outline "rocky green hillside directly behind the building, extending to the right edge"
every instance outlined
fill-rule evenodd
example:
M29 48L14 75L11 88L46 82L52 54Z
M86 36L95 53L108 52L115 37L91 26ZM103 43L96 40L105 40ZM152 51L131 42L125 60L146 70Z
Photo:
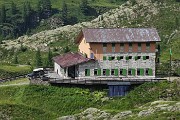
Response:
M128 1L116 9L112 9L90 22L67 25L54 30L46 30L32 36L22 36L17 40L5 41L6 48L20 47L21 44L30 49L40 48L47 50L47 46L56 48L59 52L64 47L75 46L74 40L78 32L84 27L154 27L161 37L161 60L166 62L169 58L169 45L172 45L173 59L180 59L179 19L180 3L175 0L152 2L151 0ZM170 41L170 42L168 42Z

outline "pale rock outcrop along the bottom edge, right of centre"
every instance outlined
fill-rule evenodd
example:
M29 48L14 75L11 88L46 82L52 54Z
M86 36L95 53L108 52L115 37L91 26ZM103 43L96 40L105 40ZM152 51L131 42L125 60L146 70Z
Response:
M139 107L140 112L133 113L132 111L123 111L112 115L105 111L99 110L97 108L88 108L85 111L70 115L63 116L57 120L121 120L134 117L136 119L146 117L152 114L159 114L159 112L179 112L180 113L180 102L177 101L155 101L150 103L149 106ZM167 118L168 119L168 118Z

